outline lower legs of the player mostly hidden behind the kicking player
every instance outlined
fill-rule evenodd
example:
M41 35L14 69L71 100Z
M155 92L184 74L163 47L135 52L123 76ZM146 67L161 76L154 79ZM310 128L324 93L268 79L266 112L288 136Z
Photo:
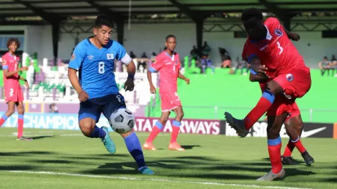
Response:
M296 161L291 156L294 147L296 147L298 151L301 153L307 166L314 163L314 158L311 155L309 155L300 139L303 128L304 125L301 118L301 114L296 115L285 121L285 130L287 131L287 135L289 135L290 139L287 146L285 147L285 151L282 157L283 164L287 165L297 164Z

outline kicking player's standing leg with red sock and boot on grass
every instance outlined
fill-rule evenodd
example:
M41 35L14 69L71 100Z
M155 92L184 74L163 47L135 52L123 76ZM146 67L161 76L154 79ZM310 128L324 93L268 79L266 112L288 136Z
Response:
M268 115L268 153L272 164L272 170L263 177L257 179L257 181L272 181L274 179L283 179L285 176L285 170L283 170L281 162L282 143L280 131L287 115L288 113L286 112L281 115Z

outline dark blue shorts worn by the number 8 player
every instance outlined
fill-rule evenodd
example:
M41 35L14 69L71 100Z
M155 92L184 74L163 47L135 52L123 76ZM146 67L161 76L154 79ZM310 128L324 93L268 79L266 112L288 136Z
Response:
M126 108L124 96L120 93L103 96L100 98L91 98L85 102L80 102L80 110L78 111L78 122L84 118L100 120L100 114L103 113L105 118L110 119L110 115L120 109Z

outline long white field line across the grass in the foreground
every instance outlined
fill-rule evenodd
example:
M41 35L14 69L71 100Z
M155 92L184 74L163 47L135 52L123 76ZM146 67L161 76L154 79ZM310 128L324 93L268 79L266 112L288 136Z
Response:
M257 184L226 184L219 182L204 182L204 181L180 181L173 179L142 179L137 177L113 177L105 175L85 175L85 174L75 174L75 173L57 173L49 171L28 171L28 170L3 170L12 173L27 173L27 174L41 174L41 175L63 175L72 177L90 177L90 178L104 178L104 179L119 179L119 180L131 180L131 181L157 181L157 182L172 182L172 183L186 183L186 184L199 184L199 185L213 185L213 186L236 186L245 188L279 188L279 189L309 189L309 188L294 188L294 187L284 187L284 186L261 186Z

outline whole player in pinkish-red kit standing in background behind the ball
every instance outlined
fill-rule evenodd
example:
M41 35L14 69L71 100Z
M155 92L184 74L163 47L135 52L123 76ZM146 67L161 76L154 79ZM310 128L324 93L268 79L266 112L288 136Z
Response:
M155 146L153 146L152 142L165 126L171 111L174 111L175 120L172 124L171 142L168 145L168 149L173 151L185 151L185 149L177 143L177 135L180 131L182 118L184 117L182 103L180 102L177 94L177 78L185 80L187 84L190 83L190 80L180 73L181 64L179 54L175 52L175 45L177 45L175 36L166 36L165 45L167 49L155 57L155 63L147 72L147 78L150 83L150 91L151 93L155 93L155 87L152 83L151 74L159 71L159 93L162 100L162 116L159 121L155 123L155 126L153 126L153 130L144 143L143 148L146 150L155 150Z

